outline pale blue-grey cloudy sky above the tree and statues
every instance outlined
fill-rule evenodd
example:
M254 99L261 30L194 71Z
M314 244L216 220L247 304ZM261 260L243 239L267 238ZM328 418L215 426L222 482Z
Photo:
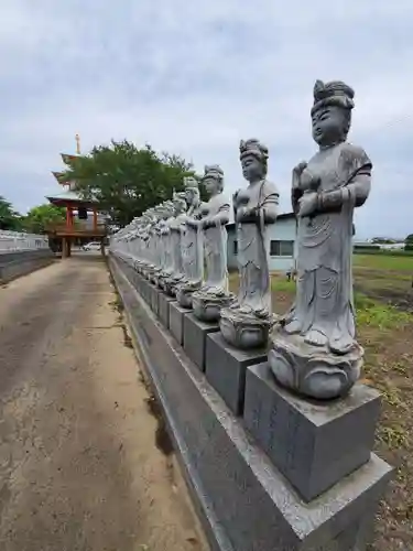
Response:
M21 212L57 191L59 152L111 138L219 163L244 185L241 138L291 169L315 151L316 78L356 89L350 141L374 164L358 234L413 231L412 0L1 0L0 195Z

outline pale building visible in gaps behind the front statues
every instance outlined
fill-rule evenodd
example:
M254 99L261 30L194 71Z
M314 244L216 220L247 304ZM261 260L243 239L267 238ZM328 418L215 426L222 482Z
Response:
M238 242L236 225L228 224L228 269L238 268ZM276 223L268 229L268 250L270 271L286 272L295 266L296 222L294 213L279 215Z

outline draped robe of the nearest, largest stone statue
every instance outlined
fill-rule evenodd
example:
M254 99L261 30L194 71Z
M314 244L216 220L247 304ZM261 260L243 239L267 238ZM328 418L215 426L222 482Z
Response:
M358 181L358 176L370 176L371 161L362 149L340 143L316 153L307 170L320 179L322 194L336 192L336 205L298 219L297 295L287 321L294 320L304 336L311 332L323 334L333 352L345 353L355 343L356 333L351 270L354 208L369 192L366 181Z

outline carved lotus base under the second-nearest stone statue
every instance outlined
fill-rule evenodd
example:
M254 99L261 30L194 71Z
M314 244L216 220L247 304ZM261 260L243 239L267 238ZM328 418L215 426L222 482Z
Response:
M252 313L224 309L219 327L227 343L242 350L261 348L268 345L273 317L262 318Z

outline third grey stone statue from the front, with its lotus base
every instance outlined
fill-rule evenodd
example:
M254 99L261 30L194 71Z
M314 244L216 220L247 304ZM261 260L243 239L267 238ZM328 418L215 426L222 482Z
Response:
M193 293L194 315L205 322L219 320L220 309L233 300L228 292L227 230L229 201L224 195L224 171L218 165L205 166L203 183L209 201L200 206L205 256L205 282Z

